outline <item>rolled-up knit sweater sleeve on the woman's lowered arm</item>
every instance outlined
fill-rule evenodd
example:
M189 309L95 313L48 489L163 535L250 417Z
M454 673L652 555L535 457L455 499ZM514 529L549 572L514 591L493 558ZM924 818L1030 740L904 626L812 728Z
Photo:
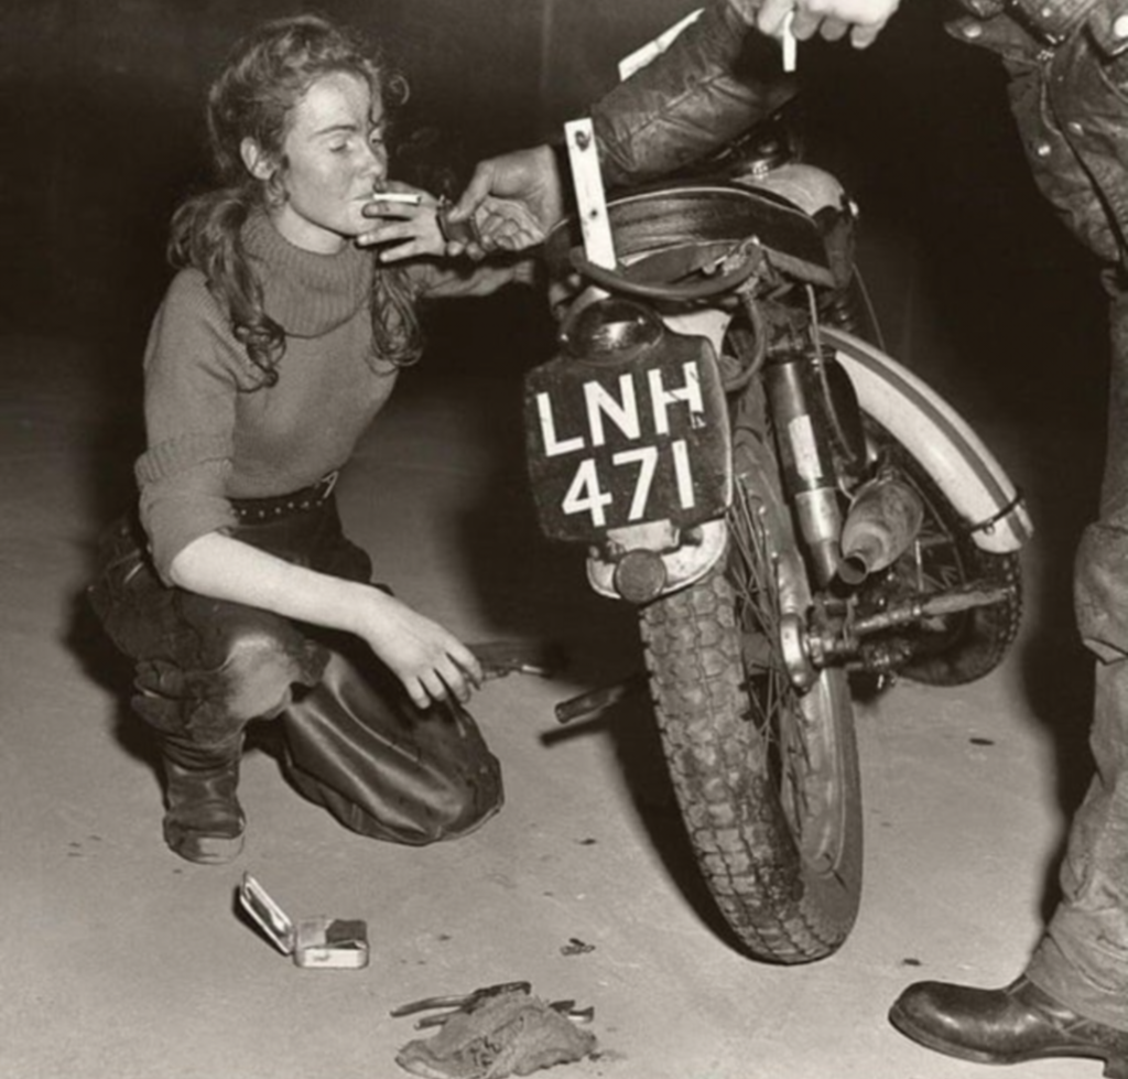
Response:
M238 348L203 275L182 271L149 334L148 448L135 466L141 523L166 584L176 554L236 523L224 483L235 445Z

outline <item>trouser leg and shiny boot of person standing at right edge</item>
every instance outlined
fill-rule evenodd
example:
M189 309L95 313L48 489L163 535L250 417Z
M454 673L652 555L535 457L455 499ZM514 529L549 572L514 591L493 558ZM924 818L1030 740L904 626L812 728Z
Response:
M1128 1079L1128 299L1112 305L1109 436L1100 519L1077 552L1077 624L1096 656L1096 774L1074 817L1061 902L1025 973L980 990L910 985L890 1020L931 1049L984 1063L1092 1056Z

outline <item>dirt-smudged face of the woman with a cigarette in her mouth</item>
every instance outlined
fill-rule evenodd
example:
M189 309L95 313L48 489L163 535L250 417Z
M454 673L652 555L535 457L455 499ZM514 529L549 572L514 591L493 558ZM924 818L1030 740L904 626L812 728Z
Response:
M335 254L371 229L361 207L387 176L384 129L384 103L354 74L323 76L299 99L282 143L285 200L271 213L291 244Z

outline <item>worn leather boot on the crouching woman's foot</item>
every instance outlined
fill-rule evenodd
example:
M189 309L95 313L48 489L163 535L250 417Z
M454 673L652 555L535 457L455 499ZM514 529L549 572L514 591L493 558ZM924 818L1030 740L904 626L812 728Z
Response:
M188 861L218 866L243 850L246 818L236 797L243 736L206 749L173 739L165 765L165 842Z

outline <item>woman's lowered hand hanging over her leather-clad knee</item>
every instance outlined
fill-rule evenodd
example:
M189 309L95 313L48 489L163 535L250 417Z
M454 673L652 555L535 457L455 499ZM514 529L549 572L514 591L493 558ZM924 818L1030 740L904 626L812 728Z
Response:
M377 588L365 597L355 632L418 708L450 698L465 703L482 684L482 665L457 637Z

